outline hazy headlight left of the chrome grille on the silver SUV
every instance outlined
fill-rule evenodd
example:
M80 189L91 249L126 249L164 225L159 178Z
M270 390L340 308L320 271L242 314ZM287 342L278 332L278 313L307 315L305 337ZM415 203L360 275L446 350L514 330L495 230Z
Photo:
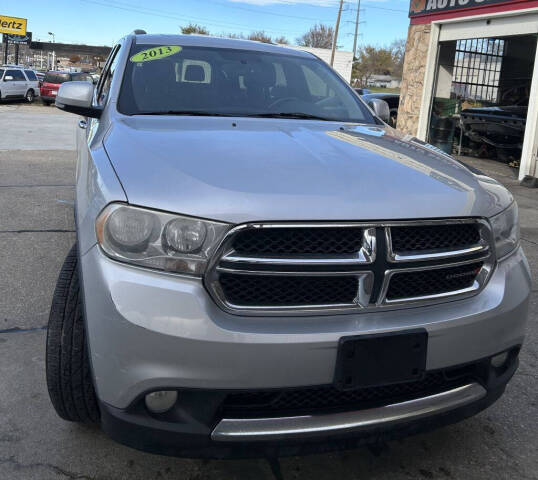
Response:
M165 270L202 275L207 261L230 228L210 222L131 207L108 205L97 218L97 239L111 258Z

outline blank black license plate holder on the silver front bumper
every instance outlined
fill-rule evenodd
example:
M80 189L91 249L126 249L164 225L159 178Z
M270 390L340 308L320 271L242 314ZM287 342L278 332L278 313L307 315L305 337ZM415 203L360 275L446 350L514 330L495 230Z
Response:
M353 390L420 380L427 348L424 329L342 337L334 384L341 390Z

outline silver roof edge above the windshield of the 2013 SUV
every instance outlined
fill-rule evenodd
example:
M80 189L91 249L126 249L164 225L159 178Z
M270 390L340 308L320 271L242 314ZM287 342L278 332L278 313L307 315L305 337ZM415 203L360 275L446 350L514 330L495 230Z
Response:
M294 55L297 57L314 57L314 55L309 52L305 52L304 50L295 50L271 43L255 42L252 40L239 40L235 38L211 37L209 35L142 34L136 35L135 38L137 45L179 45L185 47L231 48L237 50L269 52L281 55Z

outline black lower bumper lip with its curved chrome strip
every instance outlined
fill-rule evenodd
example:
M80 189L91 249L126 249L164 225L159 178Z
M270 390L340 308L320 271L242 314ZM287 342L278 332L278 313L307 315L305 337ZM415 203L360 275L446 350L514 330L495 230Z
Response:
M101 402L101 426L112 439L132 448L190 458L276 457L345 450L426 432L476 415L502 395L516 367L514 358L505 373L490 379L489 385L471 383L441 395L354 412L214 422L199 403L194 415L183 411L179 415L175 412L175 418L154 418L140 405L123 410Z

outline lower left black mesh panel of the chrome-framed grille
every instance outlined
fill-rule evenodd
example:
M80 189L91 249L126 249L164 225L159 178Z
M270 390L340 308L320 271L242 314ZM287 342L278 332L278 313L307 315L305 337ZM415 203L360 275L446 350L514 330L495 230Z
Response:
M357 296L354 276L273 276L222 274L227 300L244 306L351 304Z

